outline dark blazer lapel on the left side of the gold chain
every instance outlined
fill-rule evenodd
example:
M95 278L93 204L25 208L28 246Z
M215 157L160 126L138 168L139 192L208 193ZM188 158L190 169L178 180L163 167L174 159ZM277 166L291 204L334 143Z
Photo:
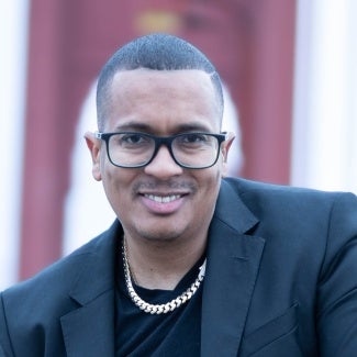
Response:
M67 356L114 356L114 287L116 222L91 253L74 285L70 298L78 309L62 316Z

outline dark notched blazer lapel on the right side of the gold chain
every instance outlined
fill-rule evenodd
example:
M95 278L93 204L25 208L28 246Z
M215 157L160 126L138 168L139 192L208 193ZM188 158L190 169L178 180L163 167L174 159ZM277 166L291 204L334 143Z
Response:
M260 237L245 235L257 223L223 181L210 227L202 298L202 356L237 356L265 244Z

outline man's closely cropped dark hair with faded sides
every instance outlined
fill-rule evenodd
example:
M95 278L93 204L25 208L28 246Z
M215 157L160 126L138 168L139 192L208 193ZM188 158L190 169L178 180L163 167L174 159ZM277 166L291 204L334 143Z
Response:
M119 48L100 71L97 86L98 126L102 130L110 104L110 88L121 70L147 68L154 70L198 69L210 75L223 116L223 91L220 76L208 57L187 41L168 34L149 34Z

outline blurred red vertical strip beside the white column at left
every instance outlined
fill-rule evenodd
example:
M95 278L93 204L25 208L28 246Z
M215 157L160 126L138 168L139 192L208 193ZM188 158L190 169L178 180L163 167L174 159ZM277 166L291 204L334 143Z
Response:
M64 171L64 66L60 1L32 1L20 278L58 257Z

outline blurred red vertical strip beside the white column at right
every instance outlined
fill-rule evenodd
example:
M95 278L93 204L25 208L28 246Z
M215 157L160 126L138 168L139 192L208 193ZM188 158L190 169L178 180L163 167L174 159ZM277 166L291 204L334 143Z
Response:
M295 1L258 3L250 35L249 83L241 105L245 108L242 112L244 175L289 183Z

